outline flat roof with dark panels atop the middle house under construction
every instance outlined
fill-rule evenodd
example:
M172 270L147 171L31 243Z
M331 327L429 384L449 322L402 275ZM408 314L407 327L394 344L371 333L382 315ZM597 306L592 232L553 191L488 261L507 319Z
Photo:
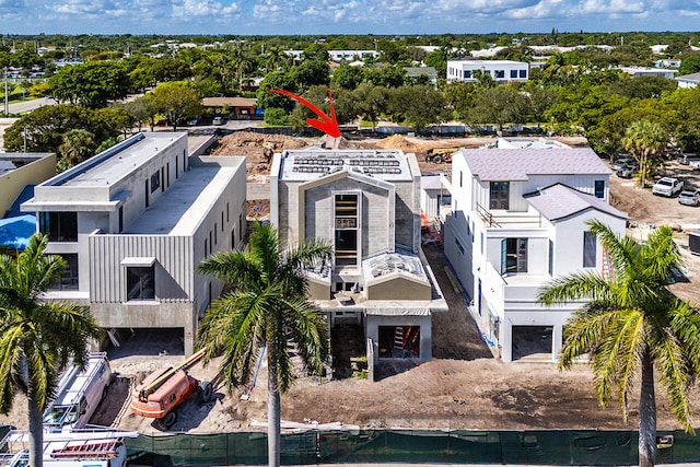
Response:
M287 182L305 182L341 171L381 180L412 179L408 161L399 150L327 150L284 151L280 175Z

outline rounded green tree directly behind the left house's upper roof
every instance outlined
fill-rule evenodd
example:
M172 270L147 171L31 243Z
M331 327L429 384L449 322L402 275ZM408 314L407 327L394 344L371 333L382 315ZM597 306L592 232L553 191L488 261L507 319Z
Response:
M172 81L155 86L152 102L159 113L165 115L173 126L173 131L182 121L201 114L201 96L189 81Z

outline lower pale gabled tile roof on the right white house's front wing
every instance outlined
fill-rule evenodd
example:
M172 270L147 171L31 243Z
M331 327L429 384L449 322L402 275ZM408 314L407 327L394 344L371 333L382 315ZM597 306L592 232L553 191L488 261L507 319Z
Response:
M616 218L629 218L627 213L615 209L605 200L562 184L551 185L523 197L549 221L564 219L588 209L596 209Z

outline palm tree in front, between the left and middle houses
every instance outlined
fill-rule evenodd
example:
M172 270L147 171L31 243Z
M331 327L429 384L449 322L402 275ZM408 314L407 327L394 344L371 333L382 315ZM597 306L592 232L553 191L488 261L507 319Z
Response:
M280 465L280 394L294 381L288 341L299 346L307 369L318 374L329 353L327 325L306 299L301 268L330 255L329 244L317 240L282 250L275 227L256 221L245 249L213 255L197 267L232 288L211 305L198 335L205 363L223 354L220 375L229 392L249 381L267 346L270 466Z

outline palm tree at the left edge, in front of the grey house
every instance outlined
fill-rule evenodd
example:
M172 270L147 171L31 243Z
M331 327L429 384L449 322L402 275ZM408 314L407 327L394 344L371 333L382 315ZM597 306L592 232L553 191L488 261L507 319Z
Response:
M84 306L42 300L66 267L60 256L44 255L47 243L37 233L18 256L0 255L0 412L10 411L18 390L26 395L31 466L43 465L43 412L60 370L70 360L84 369L90 339L103 335Z

